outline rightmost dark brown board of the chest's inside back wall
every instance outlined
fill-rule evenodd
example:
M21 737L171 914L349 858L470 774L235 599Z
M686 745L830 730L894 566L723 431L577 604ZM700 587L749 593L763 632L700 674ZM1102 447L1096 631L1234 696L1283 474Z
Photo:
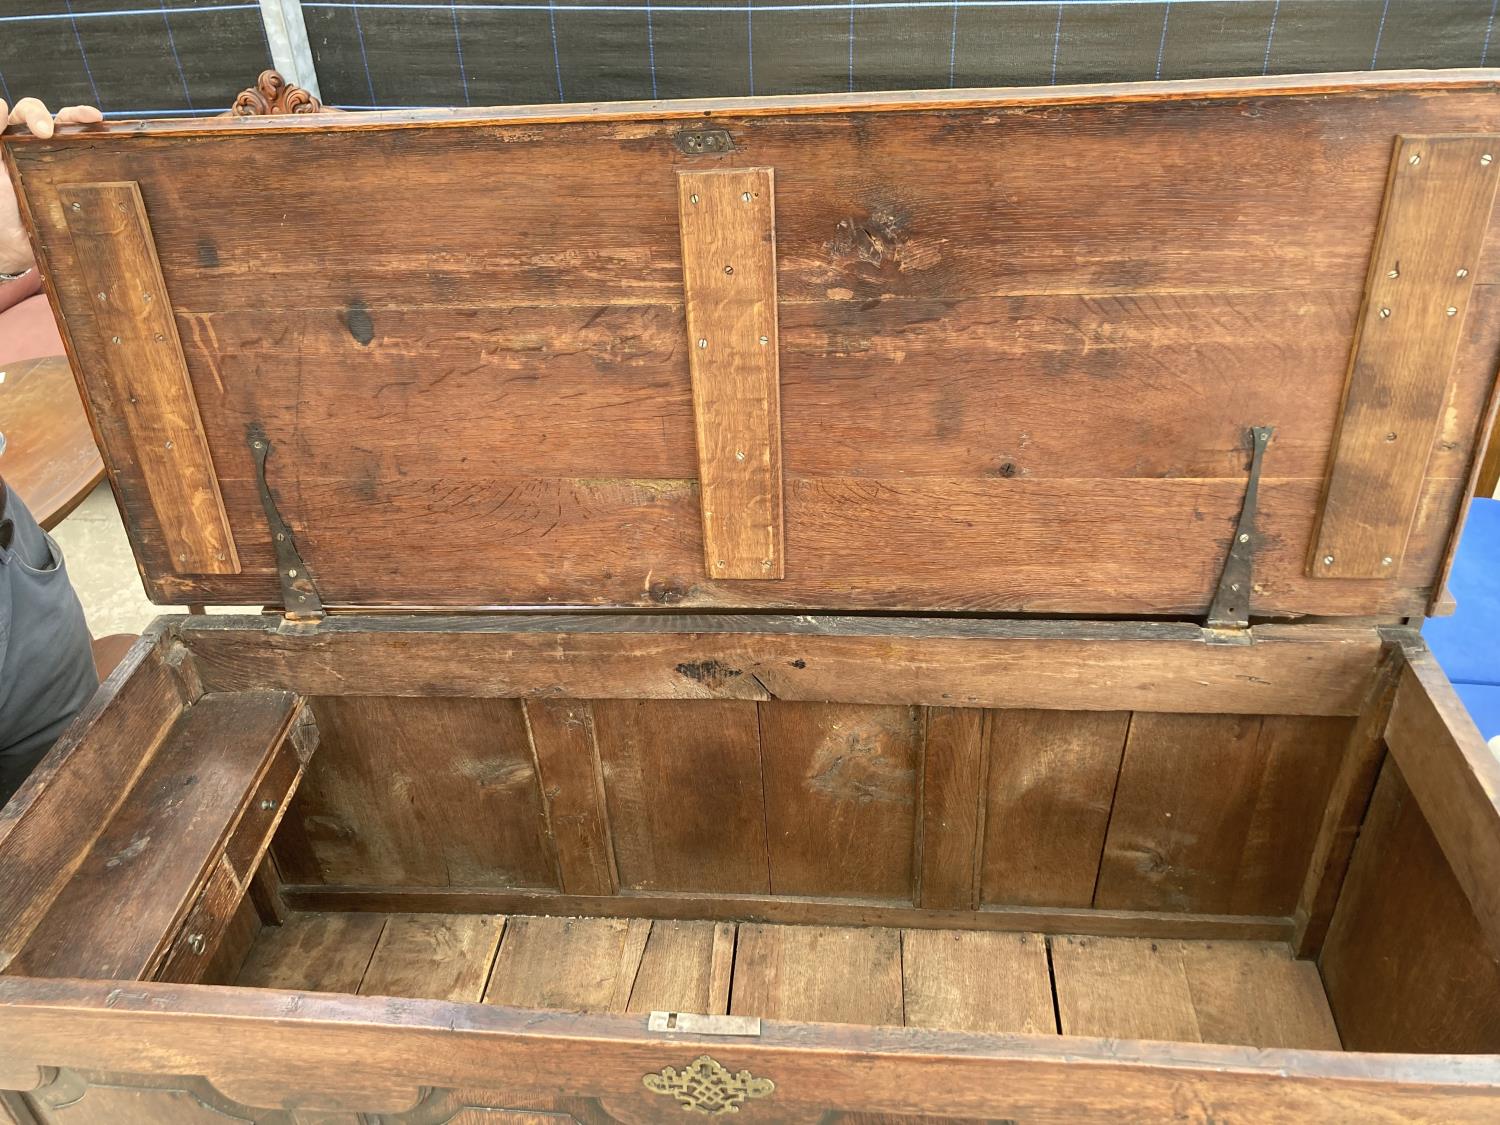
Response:
M1346 720L1137 714L1094 904L1290 914Z

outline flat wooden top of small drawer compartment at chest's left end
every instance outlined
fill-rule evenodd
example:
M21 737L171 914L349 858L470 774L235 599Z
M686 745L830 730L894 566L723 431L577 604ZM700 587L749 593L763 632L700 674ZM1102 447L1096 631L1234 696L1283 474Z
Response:
M154 970L297 706L286 692L210 694L189 706L10 970L105 980Z

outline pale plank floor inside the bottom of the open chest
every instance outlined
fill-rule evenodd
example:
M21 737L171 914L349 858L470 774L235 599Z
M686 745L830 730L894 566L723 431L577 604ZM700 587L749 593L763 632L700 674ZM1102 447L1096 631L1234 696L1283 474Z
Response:
M1338 1050L1280 942L434 914L292 914L238 984L594 1012Z

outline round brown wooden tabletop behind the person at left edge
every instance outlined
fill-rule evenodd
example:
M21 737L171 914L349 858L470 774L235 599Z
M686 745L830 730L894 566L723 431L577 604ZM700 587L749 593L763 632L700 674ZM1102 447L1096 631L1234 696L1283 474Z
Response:
M104 460L66 356L0 364L0 477L36 522L51 530L104 480Z

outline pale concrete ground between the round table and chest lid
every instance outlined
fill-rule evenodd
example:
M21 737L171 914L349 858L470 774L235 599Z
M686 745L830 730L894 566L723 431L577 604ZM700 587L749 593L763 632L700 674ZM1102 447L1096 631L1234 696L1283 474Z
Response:
M135 568L130 540L120 522L120 508L108 484L100 484L84 502L52 528L63 549L68 574L82 602L88 632L98 636L140 633L162 614L186 614L186 606L153 606ZM232 614L237 608L212 609Z

